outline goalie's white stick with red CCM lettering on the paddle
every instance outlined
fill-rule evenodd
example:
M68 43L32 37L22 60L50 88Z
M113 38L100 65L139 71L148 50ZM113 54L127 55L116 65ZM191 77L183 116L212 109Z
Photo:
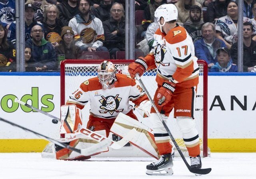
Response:
M53 115L51 115L51 114L48 114L47 112L44 112L44 111L42 111L42 110L40 110L40 109L38 109L38 108L35 108L35 107L33 107L33 106L31 106L31 105L25 103L25 102L22 102L22 101L18 100L17 98L15 98L14 102L18 102L18 103L20 103L20 104L22 104L22 105L24 105L24 106L27 106L28 108L34 109L34 110L36 110L37 112L40 112L40 113L42 113L42 114L44 114L44 115L46 115L46 116L48 116L48 117L50 117L50 118L53 118L53 120L56 120L57 123L58 123L58 121L60 121L60 118L57 118L56 116L53 116ZM53 122L53 120L52 120L52 122ZM54 122L53 122L53 123L54 123ZM54 123L54 124L57 124L57 123ZM88 130L88 129L82 128L82 129L80 129L79 131L80 131L80 132L79 132L78 134L82 134L82 135L88 136L88 137L90 137L90 138L92 138L93 140L96 140L96 141L98 141L98 142L101 142L101 141L103 141L103 140L105 140L105 139L108 139L108 138L106 138L105 136L102 136L102 135L100 135L100 134L97 134L96 132L94 132L94 131L92 131L92 130ZM110 145L109 145L109 146L110 146L111 148L113 148L113 149L120 149L120 148L124 147L124 145L127 144L130 140L132 140L132 138L135 136L135 134L136 134L136 129L132 129L132 130L130 130L130 131L127 133L127 135L124 136L121 140L119 140L119 141L117 141L117 142L115 142L115 141L113 141L113 140L110 140ZM109 140L109 139L108 139L108 140Z

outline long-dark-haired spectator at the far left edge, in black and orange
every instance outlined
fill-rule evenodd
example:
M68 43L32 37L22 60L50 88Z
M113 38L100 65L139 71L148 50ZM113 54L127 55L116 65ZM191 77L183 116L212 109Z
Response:
M7 40L4 24L0 22L0 71L15 69L16 50L14 45Z

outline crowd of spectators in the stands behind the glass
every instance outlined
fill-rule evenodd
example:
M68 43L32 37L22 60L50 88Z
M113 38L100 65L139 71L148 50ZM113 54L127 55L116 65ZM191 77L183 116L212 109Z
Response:
M256 72L256 0L244 1L244 72ZM136 25L136 51L153 48L162 4L178 9L177 24L192 37L195 55L210 72L237 72L238 0L135 0L142 11ZM125 51L125 0L25 0L26 71L58 71L64 59ZM16 71L15 0L0 0L0 71Z

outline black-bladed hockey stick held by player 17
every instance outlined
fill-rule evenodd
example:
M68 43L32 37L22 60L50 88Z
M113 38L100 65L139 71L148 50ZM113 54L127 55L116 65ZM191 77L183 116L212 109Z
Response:
M136 79L138 80L138 82L140 83L140 85L142 86L142 89L144 89L146 95L148 96L148 99L150 100L154 110L156 111L156 114L158 116L158 118L161 120L162 124L164 125L164 128L166 129L168 135L170 136L172 142L174 143L174 146L176 147L176 149L178 150L178 152L180 153L180 157L182 158L182 160L184 161L184 163L186 164L186 166L188 167L188 170L192 173L197 173L197 174L208 174L210 173L210 171L212 170L211 168L206 168L206 169L198 169L198 168L193 168L191 167L188 162L186 161L182 151L180 150L180 147L178 146L176 140L174 139L174 137L172 136L172 133L170 132L168 126L165 124L163 117L161 116L160 112L158 111L158 109L156 108L156 105L154 104L154 101L152 100L148 90L146 89L146 87L144 86L144 83L142 82L142 80L140 79L140 76L138 75L138 73L135 75Z

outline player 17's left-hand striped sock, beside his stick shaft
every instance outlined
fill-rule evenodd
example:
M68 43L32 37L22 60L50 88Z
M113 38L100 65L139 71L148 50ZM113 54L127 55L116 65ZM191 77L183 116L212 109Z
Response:
M168 118L164 114L161 114L164 121ZM156 113L150 114L150 120L153 125L154 137L156 140L156 145L158 147L160 155L166 153L172 153L172 145L170 144L170 136L166 129L164 128L163 123L159 119Z

